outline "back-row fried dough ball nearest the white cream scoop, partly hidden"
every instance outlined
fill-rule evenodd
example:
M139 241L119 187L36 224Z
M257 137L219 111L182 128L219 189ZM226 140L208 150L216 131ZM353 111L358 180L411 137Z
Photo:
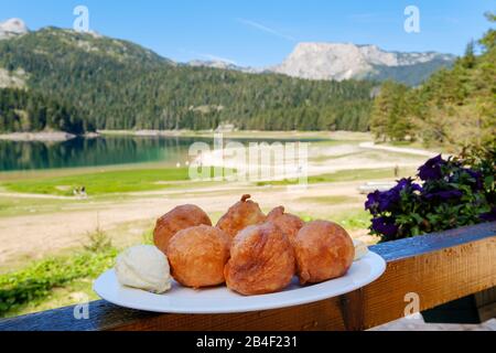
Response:
M177 206L157 221L153 242L166 255L169 242L179 231L201 224L212 226L211 218L202 208L195 205Z

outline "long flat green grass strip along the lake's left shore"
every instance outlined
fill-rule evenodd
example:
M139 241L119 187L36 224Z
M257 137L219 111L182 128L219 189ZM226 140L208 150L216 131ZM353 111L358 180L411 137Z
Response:
M184 188L191 184L187 168L137 169L88 174L6 181L7 191L72 196L75 188L85 186L89 196L115 193Z

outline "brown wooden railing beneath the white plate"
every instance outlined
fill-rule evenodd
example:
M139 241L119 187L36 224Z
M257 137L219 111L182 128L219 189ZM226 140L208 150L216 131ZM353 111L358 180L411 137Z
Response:
M420 310L496 286L496 223L401 239L371 247L387 260L377 281L311 304L236 314L158 314L89 303L89 318L74 307L0 321L2 330L365 330L402 318L408 293Z

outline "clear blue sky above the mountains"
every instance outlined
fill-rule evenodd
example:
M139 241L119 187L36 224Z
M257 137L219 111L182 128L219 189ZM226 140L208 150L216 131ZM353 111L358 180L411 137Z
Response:
M1 0L0 21L72 28L78 4L89 9L90 30L172 60L252 66L280 63L298 42L462 54L489 28L483 13L496 10L494 0ZM407 6L420 9L418 34L403 30Z

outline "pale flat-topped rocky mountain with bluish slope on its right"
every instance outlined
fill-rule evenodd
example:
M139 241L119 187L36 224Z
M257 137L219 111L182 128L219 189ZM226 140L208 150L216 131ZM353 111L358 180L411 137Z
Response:
M273 71L306 79L393 79L418 85L454 55L387 52L376 45L300 43Z

